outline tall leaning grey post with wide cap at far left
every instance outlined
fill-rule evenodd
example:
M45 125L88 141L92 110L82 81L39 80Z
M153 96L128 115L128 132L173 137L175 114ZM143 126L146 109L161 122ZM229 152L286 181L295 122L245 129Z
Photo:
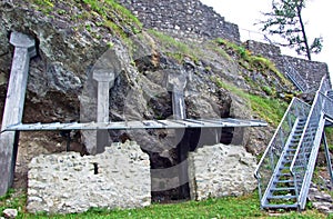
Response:
M34 40L26 34L12 32L10 43L14 46L14 54L1 130L22 120L29 62L37 54ZM18 135L17 131L6 131L0 135L0 196L8 191L13 181Z

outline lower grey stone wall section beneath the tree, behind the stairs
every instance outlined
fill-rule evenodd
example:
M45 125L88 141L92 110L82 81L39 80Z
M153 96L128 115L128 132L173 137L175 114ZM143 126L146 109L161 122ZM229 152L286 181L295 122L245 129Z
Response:
M323 76L326 74L330 77L327 64L324 62L283 56L279 47L253 40L246 41L245 46L253 53L261 54L272 60L283 73L285 73L285 64L292 66L306 81L311 90L319 87Z

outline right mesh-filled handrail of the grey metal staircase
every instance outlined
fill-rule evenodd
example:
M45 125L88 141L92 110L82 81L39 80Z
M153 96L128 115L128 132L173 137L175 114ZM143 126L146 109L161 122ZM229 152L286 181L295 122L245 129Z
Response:
M322 78L322 81L321 81L321 84L320 84L320 89L316 91L316 94L315 94L315 98L314 98L314 101L312 103L312 107L311 107L311 110L310 110L310 113L309 113L309 117L306 119L306 122L305 122L305 128L302 132L302 136L300 138L300 142L297 145L297 148L296 148L296 152L295 152L295 156L292 160L292 163L290 166L290 172L294 179L294 186L295 186L295 192L296 192L296 197L297 197L297 202L300 205L300 202L302 200L300 200L300 197L301 197L301 188L302 186L300 186L297 183L297 179L301 179L302 178L302 185L304 183L304 177L305 177L305 170L306 170L306 167L309 165L309 159L304 159L305 158L305 155L304 155L304 138L305 138L305 135L309 133L309 129L311 128L312 125L315 125L315 126L319 126L319 122L320 122L320 117L321 117L321 111L323 109L323 101L322 101L322 92L326 92L329 90L329 86L327 86L327 81L326 81L326 77L324 76ZM312 127L313 128L313 127ZM317 127L316 127L317 128ZM317 131L316 131L316 135ZM315 135L315 136L316 136ZM321 133L320 133L321 135ZM311 145L313 145L313 141L315 140L315 136L311 139ZM303 150L303 151L301 151ZM301 162L301 158L303 158L303 161ZM297 171L297 168L296 168L296 162L301 162L302 165L299 166L297 168L301 168L302 171Z

